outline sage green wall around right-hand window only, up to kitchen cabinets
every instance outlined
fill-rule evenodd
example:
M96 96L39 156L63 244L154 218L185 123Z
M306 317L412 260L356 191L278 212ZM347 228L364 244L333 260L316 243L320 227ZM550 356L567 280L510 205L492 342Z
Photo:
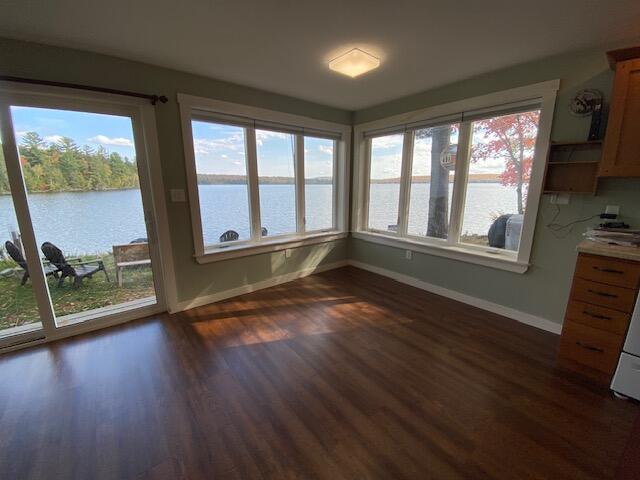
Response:
M552 139L585 140L589 119L569 114L570 99L580 89L597 88L610 97L613 72L605 51L611 46L562 55L518 65L505 70L457 82L442 88L401 98L354 113L362 123L397 113L417 110L468 97L500 91L535 82L559 78L561 87L556 103ZM569 205L560 206L556 220L568 223L604 210L605 205L620 205L622 220L640 227L640 179L608 179L600 182L598 194L572 195ZM564 238L557 238L545 225L556 207L543 196L536 222L531 261L525 274L516 274L431 255L414 253L405 260L404 250L349 240L349 258L393 270L467 295L505 305L522 312L562 323L576 259L575 247L589 224L580 223Z

